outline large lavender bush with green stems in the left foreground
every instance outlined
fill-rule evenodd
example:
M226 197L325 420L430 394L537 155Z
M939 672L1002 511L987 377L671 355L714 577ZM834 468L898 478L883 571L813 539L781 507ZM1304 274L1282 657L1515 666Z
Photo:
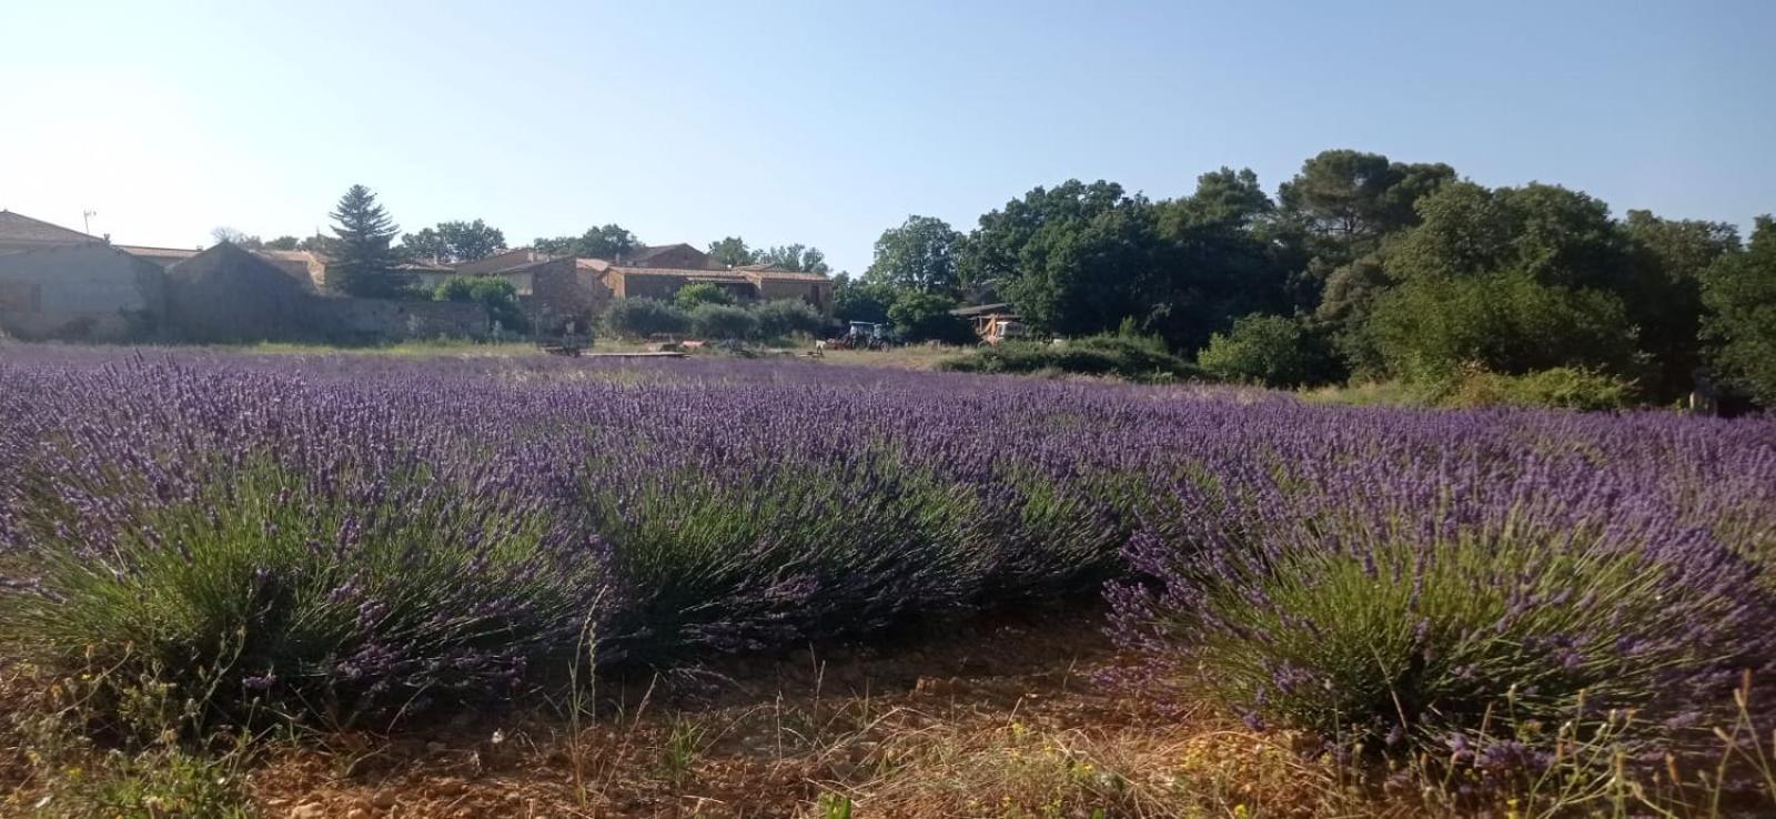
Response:
M71 526L67 501L25 510L32 588L0 595L0 638L119 680L220 684L224 709L266 698L343 720L511 693L572 650L602 567L565 547L559 515L424 473L302 476L265 453L170 503L60 474L108 499L103 540L80 537L92 521Z

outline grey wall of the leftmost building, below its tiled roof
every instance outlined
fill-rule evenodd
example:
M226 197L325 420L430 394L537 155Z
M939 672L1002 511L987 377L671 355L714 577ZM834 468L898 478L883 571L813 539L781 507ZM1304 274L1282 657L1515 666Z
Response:
M135 341L163 306L162 270L108 245L0 254L0 330L12 338Z

